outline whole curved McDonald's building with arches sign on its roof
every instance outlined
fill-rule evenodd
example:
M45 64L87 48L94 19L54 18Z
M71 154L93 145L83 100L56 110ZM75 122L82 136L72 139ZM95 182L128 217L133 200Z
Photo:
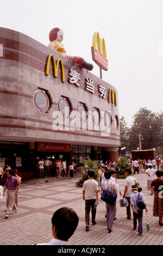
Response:
M107 70L104 40L93 54ZM91 54L91 50L90 50ZM118 92L114 86L29 36L0 28L0 166L36 176L39 159L117 159Z

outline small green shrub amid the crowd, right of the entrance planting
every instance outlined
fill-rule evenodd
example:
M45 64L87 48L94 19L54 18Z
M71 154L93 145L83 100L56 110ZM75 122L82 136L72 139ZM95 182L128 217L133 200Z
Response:
M121 157L116 161L115 169L117 170L117 179L125 179L126 175L124 174L126 169L131 169L130 164L126 157Z

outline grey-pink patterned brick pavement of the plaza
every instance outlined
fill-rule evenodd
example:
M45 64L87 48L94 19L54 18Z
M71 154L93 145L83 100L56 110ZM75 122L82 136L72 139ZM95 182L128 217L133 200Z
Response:
M119 205L117 198L117 220L114 221L113 231L109 234L106 228L105 203L99 199L97 206L96 225L90 225L85 231L85 203L82 199L82 188L75 186L80 174L73 181L68 177L60 179L30 179L23 181L18 194L18 211L5 219L5 201L7 193L1 199L0 206L0 245L33 245L48 242L52 239L51 218L55 210L62 206L73 208L79 216L76 232L69 240L70 245L163 245L163 227L159 218L153 217L153 198L147 191L147 175L135 174L135 178L143 187L147 202L147 216L150 230L146 231L146 214L143 214L143 235L139 236L133 230L133 217L127 220L126 208ZM120 190L124 190L124 179L117 179ZM100 198L100 193L99 193ZM5 239L2 239L2 236Z

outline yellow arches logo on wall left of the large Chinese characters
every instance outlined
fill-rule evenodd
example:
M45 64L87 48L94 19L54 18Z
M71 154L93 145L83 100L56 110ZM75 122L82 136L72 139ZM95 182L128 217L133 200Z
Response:
M64 82L65 82L64 65L63 65L61 59L58 59L58 60L57 60L57 65L56 65L56 63L55 63L55 58L54 58L54 55L53 55L53 54L49 55L49 57L48 57L47 68L46 68L46 75L47 75L47 76L49 75L49 65L50 65L50 60L51 60L51 58L53 59L54 77L58 77L58 65L59 65L59 63L61 63L61 68L62 68L62 82L64 83Z

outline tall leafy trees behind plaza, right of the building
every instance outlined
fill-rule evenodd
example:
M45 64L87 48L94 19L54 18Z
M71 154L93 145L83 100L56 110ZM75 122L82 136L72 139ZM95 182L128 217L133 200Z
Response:
M120 118L121 130L121 147L119 153L122 155L124 151L121 148L126 147L126 151L140 148L140 140L142 149L153 149L162 147L163 144L163 112L154 113L146 107L140 108L134 114L133 124L130 128L122 116Z

